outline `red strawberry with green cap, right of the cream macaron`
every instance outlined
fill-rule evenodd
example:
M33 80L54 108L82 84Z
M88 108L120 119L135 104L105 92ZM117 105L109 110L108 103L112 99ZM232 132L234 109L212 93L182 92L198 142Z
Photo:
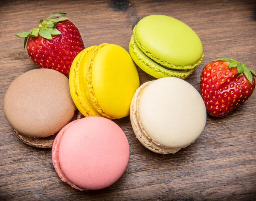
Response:
M210 62L201 74L201 95L207 112L215 117L227 115L253 93L256 73L233 59Z

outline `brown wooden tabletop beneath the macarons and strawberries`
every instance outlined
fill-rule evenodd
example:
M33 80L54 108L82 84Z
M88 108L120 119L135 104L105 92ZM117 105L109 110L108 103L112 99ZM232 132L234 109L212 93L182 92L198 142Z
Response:
M256 92L230 115L207 116L194 144L161 155L135 138L129 117L115 122L131 149L125 174L112 186L79 192L54 170L51 150L29 147L3 114L10 83L37 66L15 34L37 27L52 9L67 12L86 47L104 42L128 50L133 26L150 14L166 14L192 27L204 46L204 61L186 81L199 90L204 65L231 57L256 71L256 3L242 0L1 1L0 2L0 200L256 200ZM141 84L154 79L138 69Z

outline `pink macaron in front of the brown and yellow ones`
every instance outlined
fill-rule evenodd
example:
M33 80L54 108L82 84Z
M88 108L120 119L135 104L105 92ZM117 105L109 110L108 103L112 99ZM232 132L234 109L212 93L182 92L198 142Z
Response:
M70 122L52 146L52 162L58 176L77 190L110 186L125 172L129 156L122 129L98 116Z

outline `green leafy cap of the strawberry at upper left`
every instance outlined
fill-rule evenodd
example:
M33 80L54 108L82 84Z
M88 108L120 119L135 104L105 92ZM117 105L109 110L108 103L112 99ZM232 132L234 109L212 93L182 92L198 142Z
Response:
M20 34L15 34L15 36L20 38L25 38L24 40L24 49L26 46L26 42L29 37L38 37L38 34L46 39L52 40L52 35L58 35L61 34L60 31L58 31L57 28L55 28L56 24L60 21L67 20L67 17L65 16L66 13L58 13L58 14L51 14L46 20L40 20L39 21L39 27L38 28L32 28L30 31L26 31Z

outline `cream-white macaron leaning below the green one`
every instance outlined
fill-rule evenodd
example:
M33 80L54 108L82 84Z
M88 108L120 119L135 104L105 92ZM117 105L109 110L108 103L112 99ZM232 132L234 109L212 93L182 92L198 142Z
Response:
M155 153L176 153L195 142L206 123L204 101L188 82L164 77L145 82L130 108L137 139Z

